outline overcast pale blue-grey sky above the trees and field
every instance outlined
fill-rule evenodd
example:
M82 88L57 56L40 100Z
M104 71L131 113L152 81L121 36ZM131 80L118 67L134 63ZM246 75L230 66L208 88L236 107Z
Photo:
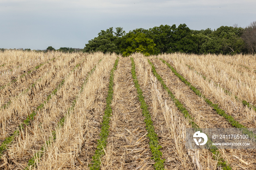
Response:
M0 0L0 48L83 49L110 27L246 27L256 21L255 7L256 0Z

